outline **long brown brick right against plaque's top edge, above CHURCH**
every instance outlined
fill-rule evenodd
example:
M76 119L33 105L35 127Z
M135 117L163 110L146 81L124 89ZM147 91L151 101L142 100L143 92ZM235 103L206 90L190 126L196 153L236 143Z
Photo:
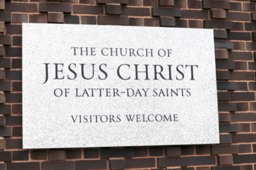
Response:
M99 25L117 25L117 26L128 26L129 19L126 16L98 16Z

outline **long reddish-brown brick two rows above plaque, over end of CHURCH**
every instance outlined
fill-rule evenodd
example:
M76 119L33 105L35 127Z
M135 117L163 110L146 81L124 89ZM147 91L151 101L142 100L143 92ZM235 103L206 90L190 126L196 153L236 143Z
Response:
M122 15L129 16L150 16L150 8L123 7Z

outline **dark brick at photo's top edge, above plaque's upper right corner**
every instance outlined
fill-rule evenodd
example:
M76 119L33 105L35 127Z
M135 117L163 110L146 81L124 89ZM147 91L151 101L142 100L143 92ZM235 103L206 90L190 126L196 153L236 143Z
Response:
M227 2L227 1L214 1L214 0L202 0L202 8L230 9L230 2Z

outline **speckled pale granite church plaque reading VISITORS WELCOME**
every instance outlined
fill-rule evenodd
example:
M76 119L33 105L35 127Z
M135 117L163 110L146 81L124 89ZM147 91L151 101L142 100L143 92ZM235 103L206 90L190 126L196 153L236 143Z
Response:
M22 24L23 148L219 143L212 29Z

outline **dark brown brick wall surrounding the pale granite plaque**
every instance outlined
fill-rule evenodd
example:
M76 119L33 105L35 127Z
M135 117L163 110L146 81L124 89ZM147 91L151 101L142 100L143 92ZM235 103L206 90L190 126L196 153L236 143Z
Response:
M22 22L214 29L220 145L22 149ZM256 170L255 51L255 0L0 0L0 169Z

